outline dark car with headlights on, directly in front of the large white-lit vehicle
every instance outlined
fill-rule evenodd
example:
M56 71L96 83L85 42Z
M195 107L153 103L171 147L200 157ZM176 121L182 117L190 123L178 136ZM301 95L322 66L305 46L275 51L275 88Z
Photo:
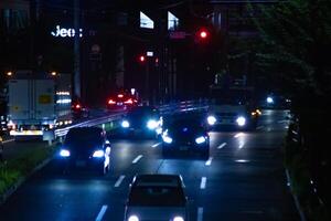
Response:
M197 116L175 117L163 126L162 155L174 152L199 152L203 158L210 156L210 136L204 122Z

